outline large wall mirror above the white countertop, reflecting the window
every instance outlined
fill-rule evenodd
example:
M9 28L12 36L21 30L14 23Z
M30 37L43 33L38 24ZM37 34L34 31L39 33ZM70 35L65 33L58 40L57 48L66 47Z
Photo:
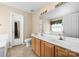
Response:
M55 9L43 15L49 21L45 24L45 30L48 29L50 33L62 33L67 37L79 38L79 3L62 3L57 4ZM60 6L60 7L58 7ZM61 17L61 18L60 18ZM45 20L46 20L45 19Z

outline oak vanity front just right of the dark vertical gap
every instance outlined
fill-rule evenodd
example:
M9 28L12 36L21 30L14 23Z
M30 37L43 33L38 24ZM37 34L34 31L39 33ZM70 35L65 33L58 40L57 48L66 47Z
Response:
M67 57L68 56L68 50L55 46L55 57Z

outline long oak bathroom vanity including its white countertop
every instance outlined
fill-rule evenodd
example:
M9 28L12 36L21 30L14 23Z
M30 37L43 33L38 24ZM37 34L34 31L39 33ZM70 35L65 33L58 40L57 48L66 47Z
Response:
M32 34L32 50L41 57L78 57L79 42L75 38L65 37L59 40L58 37L47 37ZM72 41L71 41L72 40ZM77 38L76 38L77 40Z

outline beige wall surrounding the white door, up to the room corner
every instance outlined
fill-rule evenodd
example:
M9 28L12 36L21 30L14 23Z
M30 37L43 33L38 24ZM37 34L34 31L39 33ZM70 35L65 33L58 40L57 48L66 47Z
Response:
M32 15L19 9L11 8L0 4L0 34L10 31L10 12L15 12L24 16L24 38L31 34Z

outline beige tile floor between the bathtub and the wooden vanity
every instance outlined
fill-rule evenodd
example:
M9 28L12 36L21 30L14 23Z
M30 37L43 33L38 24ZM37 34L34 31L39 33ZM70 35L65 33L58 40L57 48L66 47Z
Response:
M14 46L8 49L7 57L37 57L31 47L25 45Z

